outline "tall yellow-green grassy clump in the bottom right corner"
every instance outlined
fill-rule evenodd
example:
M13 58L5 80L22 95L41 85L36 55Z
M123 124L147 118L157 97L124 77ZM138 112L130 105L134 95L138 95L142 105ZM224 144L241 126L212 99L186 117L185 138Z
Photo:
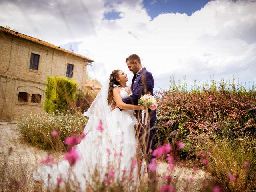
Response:
M215 134L212 139L206 138L204 148L210 152L209 166L223 186L237 192L256 190L255 138Z

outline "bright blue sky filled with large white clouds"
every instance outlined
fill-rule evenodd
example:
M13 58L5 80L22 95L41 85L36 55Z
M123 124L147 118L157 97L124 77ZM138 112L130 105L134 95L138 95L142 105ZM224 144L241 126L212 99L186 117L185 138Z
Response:
M154 90L170 77L190 84L256 82L256 0L0 0L0 26L94 60L102 84L138 54Z

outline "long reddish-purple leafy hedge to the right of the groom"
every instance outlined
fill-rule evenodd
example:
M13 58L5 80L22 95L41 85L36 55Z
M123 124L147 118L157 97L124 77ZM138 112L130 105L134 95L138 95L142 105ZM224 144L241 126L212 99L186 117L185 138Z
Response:
M208 90L178 89L164 91L158 96L160 102L156 120L156 143L172 141L175 130L189 146L188 154L195 155L199 142L213 132L230 130L234 135L256 130L256 92L237 91L221 81L219 86Z

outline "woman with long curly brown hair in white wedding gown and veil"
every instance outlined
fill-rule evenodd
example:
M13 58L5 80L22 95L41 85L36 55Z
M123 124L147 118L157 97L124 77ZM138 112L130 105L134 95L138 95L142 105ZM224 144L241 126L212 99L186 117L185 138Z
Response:
M144 108L122 101L131 94L127 81L124 72L114 70L109 82L102 86L84 113L89 117L83 131L86 136L71 149L78 160L73 164L63 160L58 164L39 167L33 173L34 180L42 182L48 190L68 186L75 191L90 191L102 183L106 187L118 182L123 185L123 190L138 190L137 151L140 149L134 131L134 126L138 124L134 110ZM111 111L111 104L124 110L116 108Z

